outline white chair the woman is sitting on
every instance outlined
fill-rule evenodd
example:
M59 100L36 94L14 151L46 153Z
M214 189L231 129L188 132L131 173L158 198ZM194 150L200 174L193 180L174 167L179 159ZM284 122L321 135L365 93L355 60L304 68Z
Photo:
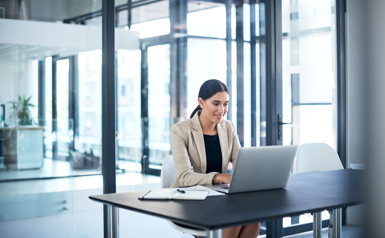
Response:
M167 156L161 170L161 188L169 188L175 180L176 170L172 155ZM206 231L179 226L170 220L166 220L174 229L193 236L206 236Z

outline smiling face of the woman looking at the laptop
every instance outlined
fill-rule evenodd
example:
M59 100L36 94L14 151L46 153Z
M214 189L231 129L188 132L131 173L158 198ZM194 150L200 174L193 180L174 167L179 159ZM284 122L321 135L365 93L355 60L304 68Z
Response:
M221 123L224 115L229 110L229 94L227 92L219 92L213 97L203 100L198 99L203 114L209 121L215 124Z

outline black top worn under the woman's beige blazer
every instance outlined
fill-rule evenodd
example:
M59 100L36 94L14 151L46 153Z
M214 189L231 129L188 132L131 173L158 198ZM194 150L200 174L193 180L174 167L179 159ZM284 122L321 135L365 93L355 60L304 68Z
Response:
M222 173L222 151L219 136L204 135L204 150L206 151L206 173Z

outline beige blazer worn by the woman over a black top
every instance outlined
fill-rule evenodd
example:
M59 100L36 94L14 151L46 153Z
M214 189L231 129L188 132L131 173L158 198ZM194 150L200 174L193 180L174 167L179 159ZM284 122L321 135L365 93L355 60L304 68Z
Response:
M206 151L199 114L171 126L171 150L176 177L171 188L191 185L211 185L215 172L206 174ZM222 173L235 163L241 148L233 122L222 120L217 124L219 144L222 151Z

